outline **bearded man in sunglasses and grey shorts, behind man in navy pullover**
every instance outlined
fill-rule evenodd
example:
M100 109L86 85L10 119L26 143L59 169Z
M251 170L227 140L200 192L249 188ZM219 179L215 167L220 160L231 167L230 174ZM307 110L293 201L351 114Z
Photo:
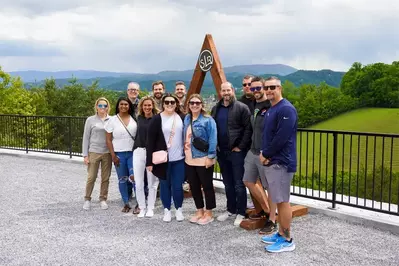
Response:
M266 195L268 189L264 173L264 166L259 161L260 149L262 148L262 133L266 111L270 108L270 101L263 91L264 80L254 77L251 81L251 92L256 100L255 110L251 115L252 143L251 149L245 157L244 184L254 198L256 214L250 215L249 219L259 220L266 218L265 226L259 231L261 234L271 233L276 229L276 204L272 203ZM260 177L260 178L259 178ZM260 180L259 180L260 179ZM263 186L262 186L263 185Z

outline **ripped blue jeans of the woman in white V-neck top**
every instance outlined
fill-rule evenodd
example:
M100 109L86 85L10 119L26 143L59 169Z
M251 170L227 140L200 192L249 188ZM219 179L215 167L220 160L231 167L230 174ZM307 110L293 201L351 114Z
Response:
M129 176L134 176L133 173L133 152L122 151L115 152L119 158L119 166L115 166L116 174L119 180L119 192L121 193L124 204L129 204L129 199L132 196L132 191L136 190L134 183L129 182Z

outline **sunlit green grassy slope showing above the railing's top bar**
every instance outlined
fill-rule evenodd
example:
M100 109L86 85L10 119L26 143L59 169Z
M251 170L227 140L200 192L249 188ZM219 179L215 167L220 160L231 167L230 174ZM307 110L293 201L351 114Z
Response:
M399 108L357 109L310 128L399 134Z

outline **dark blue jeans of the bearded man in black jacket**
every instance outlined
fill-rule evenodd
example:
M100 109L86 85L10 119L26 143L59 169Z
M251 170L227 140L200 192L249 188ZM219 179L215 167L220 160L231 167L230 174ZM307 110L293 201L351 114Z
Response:
M243 216L247 209L247 191L242 181L245 155L244 151L218 152L218 163L226 190L227 211Z

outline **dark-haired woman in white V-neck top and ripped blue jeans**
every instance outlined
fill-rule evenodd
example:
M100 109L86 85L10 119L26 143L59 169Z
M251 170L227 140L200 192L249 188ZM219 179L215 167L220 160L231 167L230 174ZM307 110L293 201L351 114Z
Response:
M129 212L129 199L133 192L133 145L137 132L137 122L132 102L120 97L116 103L115 115L105 124L107 146L118 176L119 192L124 207L122 212Z

